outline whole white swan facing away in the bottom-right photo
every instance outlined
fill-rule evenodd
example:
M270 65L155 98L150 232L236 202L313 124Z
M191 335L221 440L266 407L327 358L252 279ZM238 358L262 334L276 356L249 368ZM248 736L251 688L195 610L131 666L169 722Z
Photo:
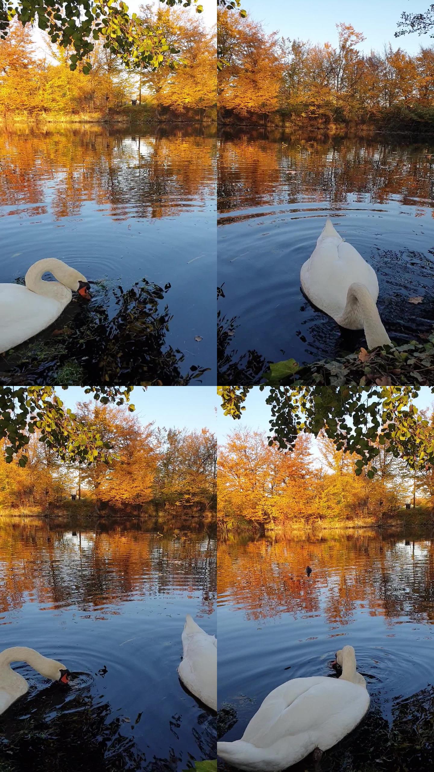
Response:
M241 770L278 772L342 740L361 721L370 699L356 671L354 648L344 646L336 658L339 679L295 678L273 689L241 740L217 743L218 755Z

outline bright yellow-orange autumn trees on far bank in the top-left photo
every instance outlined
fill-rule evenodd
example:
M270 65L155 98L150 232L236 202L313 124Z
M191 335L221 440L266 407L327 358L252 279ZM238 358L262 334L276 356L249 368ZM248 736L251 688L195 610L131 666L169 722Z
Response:
M139 14L144 30L161 29L167 46L178 51L176 68L128 69L102 39L93 42L86 62L71 64L72 49L44 32L44 50L37 49L30 26L11 22L0 39L0 124L212 123L215 32L182 8L141 5Z

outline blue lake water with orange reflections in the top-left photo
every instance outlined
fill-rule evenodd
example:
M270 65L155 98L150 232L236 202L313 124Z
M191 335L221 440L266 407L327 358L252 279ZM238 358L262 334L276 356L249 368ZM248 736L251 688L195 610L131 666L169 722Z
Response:
M38 337L48 340L45 353L30 356L25 345L15 352L15 382L21 374L25 383L38 377L42 384L66 382L67 373L59 381L56 368L74 358L84 383L103 381L96 354L110 348L106 335L117 336L118 349L126 347L124 317L131 307L123 299L146 279L137 299L141 321L131 334L140 337L148 361L139 367L135 350L131 361L121 362L120 380L151 381L160 374L164 384L178 383L175 364L168 364L171 347L181 375L210 368L202 383L215 383L212 129L0 130L0 232L0 283L22 282L29 266L46 257L64 260L94 283L91 303L71 303ZM65 335L53 338L54 329L65 327ZM110 358L108 351L103 358ZM114 366L109 374L114 382Z

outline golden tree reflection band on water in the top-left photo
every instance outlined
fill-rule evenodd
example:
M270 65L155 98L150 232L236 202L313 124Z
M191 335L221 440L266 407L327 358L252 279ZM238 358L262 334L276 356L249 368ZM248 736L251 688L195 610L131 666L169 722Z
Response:
M161 218L215 194L212 137L184 129L146 137L128 132L2 130L0 206L20 217L51 210L59 220L95 201L117 219Z

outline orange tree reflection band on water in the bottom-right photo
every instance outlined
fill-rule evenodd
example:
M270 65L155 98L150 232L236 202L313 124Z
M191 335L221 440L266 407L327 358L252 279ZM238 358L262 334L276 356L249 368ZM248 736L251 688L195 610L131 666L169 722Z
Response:
M317 540L222 543L219 596L249 619L321 613L346 625L356 608L391 624L402 616L434 621L434 540L364 531ZM306 567L314 571L310 577Z

